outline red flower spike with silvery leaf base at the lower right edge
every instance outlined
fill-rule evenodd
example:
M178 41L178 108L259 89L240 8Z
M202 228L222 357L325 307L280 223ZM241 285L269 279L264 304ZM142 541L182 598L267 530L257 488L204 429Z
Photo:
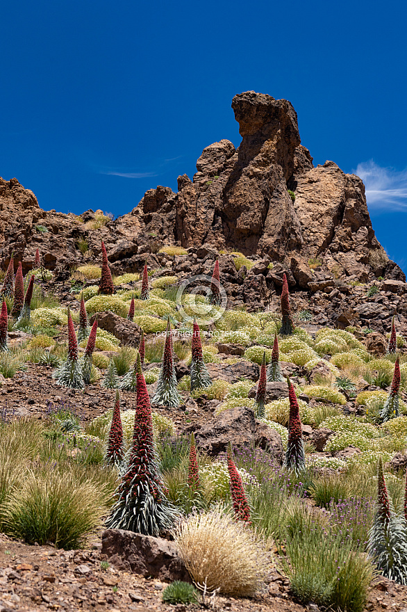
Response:
M367 551L379 572L399 584L407 584L407 526L394 513L379 458L376 512L369 531Z

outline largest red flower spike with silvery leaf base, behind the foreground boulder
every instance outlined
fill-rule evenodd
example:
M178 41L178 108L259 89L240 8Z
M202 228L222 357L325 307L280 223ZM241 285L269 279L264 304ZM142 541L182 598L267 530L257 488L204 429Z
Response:
M151 405L142 375L140 355L136 362L137 405L133 447L117 488L117 501L106 520L108 529L126 529L144 536L159 536L172 528L176 509L165 498L153 441Z

